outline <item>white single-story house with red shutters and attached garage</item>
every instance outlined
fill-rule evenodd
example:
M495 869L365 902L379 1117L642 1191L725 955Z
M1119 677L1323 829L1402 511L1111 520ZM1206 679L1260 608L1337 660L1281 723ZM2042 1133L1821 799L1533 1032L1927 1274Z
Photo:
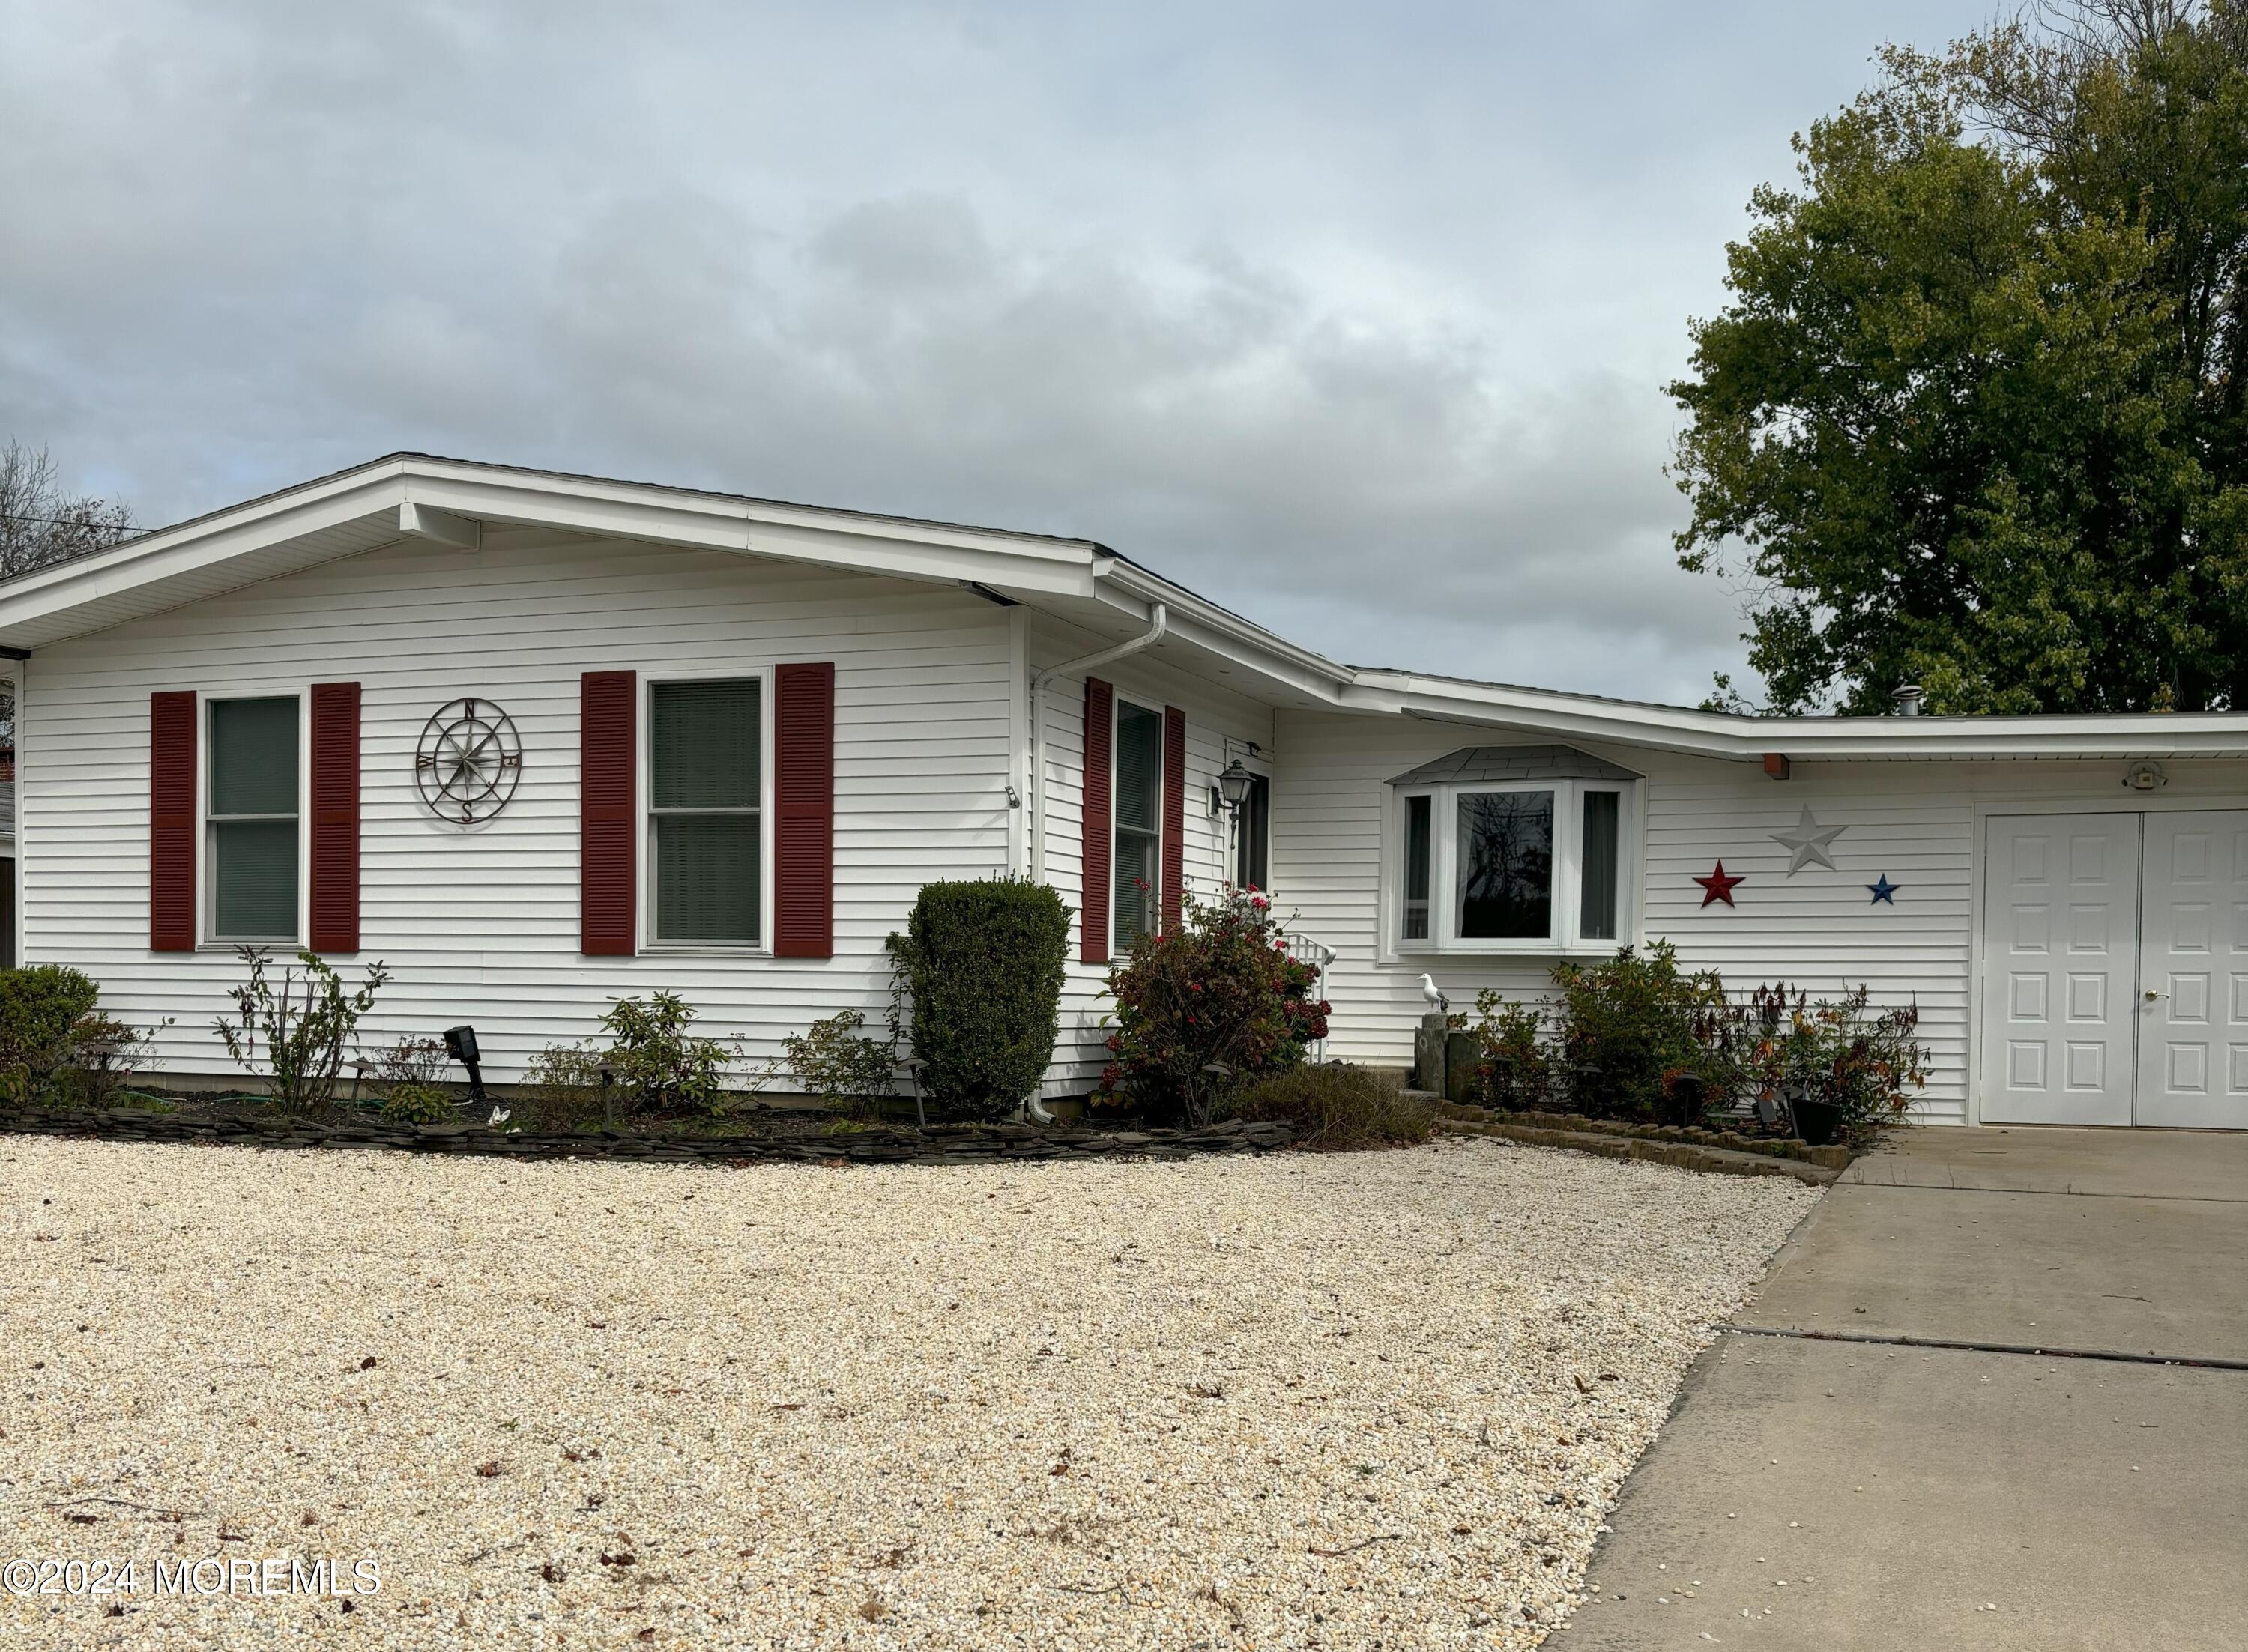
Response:
M1331 953L1331 1056L1670 940L1918 1000L1924 1113L2248 1126L2248 715L1724 717L1340 665L1086 539L393 454L0 584L16 955L223 1077L236 944L382 960L364 1034L497 1081L677 989L888 1002L928 879L1120 944L1227 879ZM1257 780L1230 811L1216 780ZM236 1074L238 1077L238 1074Z

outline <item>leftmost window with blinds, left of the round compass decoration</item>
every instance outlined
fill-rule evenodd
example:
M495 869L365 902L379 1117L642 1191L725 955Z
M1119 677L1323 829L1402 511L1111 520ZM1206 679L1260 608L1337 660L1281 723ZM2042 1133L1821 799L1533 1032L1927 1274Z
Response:
M214 699L211 940L297 940L297 697Z

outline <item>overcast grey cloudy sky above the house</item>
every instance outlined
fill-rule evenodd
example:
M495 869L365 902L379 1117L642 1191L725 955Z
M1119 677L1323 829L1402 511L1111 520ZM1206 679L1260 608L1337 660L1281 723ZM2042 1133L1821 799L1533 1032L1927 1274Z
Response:
M1326 654L1738 668L1664 476L1789 133L1987 0L0 0L0 436L1102 539Z

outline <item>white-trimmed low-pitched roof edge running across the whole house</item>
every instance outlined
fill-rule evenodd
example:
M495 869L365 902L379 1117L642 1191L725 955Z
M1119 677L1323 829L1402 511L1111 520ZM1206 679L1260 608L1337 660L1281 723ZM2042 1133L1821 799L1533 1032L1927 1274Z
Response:
M1117 555L1095 539L971 528L749 494L387 454L0 582L0 650L22 654L398 539L472 546L486 526L697 546L969 587L1106 638L1149 629L1189 670L1284 708L1418 717L1603 744L1758 760L2241 757L2248 712L2118 717L1733 717L1356 668ZM1470 748L1472 751L1472 748Z

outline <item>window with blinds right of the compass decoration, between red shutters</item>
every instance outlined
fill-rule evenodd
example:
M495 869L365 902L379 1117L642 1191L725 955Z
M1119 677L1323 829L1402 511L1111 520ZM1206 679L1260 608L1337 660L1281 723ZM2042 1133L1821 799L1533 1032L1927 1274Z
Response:
M647 800L659 942L762 940L764 686L647 688Z

